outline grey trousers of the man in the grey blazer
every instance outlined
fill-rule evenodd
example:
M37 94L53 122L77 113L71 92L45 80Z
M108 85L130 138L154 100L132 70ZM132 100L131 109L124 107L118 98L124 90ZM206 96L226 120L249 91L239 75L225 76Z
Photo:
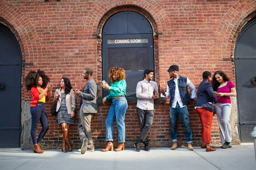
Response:
M93 113L83 113L82 109L80 109L78 133L79 133L79 138L81 139L82 142L84 138L88 139L87 148L93 147L92 130L91 130L92 116L93 116Z

